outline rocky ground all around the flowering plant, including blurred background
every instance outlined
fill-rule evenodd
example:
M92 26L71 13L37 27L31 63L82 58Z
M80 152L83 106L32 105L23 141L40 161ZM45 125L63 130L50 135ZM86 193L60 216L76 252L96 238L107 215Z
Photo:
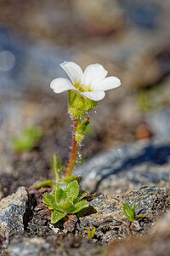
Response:
M0 22L0 54L15 58L11 70L0 59L1 255L169 255L169 2L2 1ZM102 63L122 86L90 114L77 160L90 207L52 225L49 188L33 184L54 178L54 153L63 170L69 158L66 93L48 85L67 60ZM15 152L14 137L32 126L41 140ZM145 217L129 223L122 206L134 202Z

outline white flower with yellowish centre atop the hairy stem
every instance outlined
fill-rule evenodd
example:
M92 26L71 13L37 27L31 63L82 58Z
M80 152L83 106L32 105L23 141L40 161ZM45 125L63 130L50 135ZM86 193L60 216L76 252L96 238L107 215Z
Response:
M105 90L111 90L121 85L121 81L116 77L105 78L107 71L99 64L89 65L84 73L75 62L65 61L60 66L68 74L71 81L61 78L54 79L50 87L55 93L77 90L88 99L98 102L105 97Z

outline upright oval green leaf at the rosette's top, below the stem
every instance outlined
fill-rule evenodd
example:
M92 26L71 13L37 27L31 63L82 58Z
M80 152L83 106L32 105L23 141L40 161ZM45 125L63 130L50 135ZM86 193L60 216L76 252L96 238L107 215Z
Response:
M67 184L65 193L67 200L70 200L72 202L75 202L77 200L77 196L79 194L79 186L77 180Z

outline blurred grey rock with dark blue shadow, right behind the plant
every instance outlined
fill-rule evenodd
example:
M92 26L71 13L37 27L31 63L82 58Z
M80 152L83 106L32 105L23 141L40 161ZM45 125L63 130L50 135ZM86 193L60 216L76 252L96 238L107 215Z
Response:
M90 192L120 193L146 184L168 186L170 181L170 109L149 113L152 140L122 144L96 154L76 170Z

